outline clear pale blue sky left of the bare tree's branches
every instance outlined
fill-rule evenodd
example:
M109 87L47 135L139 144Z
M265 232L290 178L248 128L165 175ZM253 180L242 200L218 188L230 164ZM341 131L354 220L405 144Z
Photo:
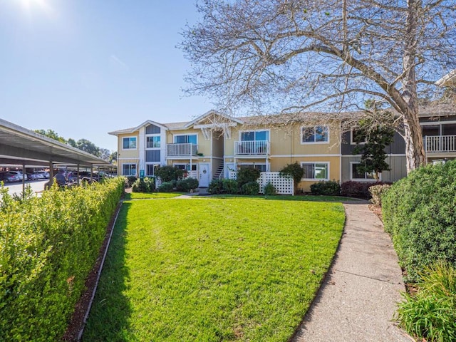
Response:
M0 118L116 149L112 130L192 120L175 46L192 0L0 0Z

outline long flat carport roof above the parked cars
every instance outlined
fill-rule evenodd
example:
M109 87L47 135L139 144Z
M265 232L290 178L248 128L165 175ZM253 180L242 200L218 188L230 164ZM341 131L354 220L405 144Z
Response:
M1 165L47 166L49 162L83 166L110 165L88 152L0 119Z

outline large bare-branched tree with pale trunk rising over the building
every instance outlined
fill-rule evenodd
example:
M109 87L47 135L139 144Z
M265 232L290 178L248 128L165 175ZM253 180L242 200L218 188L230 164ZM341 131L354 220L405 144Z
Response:
M342 112L375 100L400 115L407 170L425 163L418 98L435 96L455 67L454 0L204 0L197 9L180 45L190 94L234 113Z

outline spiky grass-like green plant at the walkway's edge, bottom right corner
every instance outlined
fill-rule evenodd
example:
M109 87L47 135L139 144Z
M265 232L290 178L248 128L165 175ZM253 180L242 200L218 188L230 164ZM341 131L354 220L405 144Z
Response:
M420 341L456 341L456 269L440 262L420 272L415 295L404 294L397 318Z

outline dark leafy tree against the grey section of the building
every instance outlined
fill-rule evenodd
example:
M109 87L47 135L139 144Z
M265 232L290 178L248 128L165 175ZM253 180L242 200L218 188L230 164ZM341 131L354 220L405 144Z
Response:
M356 142L353 154L361 154L358 172L375 172L375 179L378 180L382 171L390 170L390 165L385 162L385 147L394 140L394 129L390 124L392 120L393 116L390 115L390 120L384 123L375 123L372 118L364 118L359 122L356 135L353 137L353 141Z

